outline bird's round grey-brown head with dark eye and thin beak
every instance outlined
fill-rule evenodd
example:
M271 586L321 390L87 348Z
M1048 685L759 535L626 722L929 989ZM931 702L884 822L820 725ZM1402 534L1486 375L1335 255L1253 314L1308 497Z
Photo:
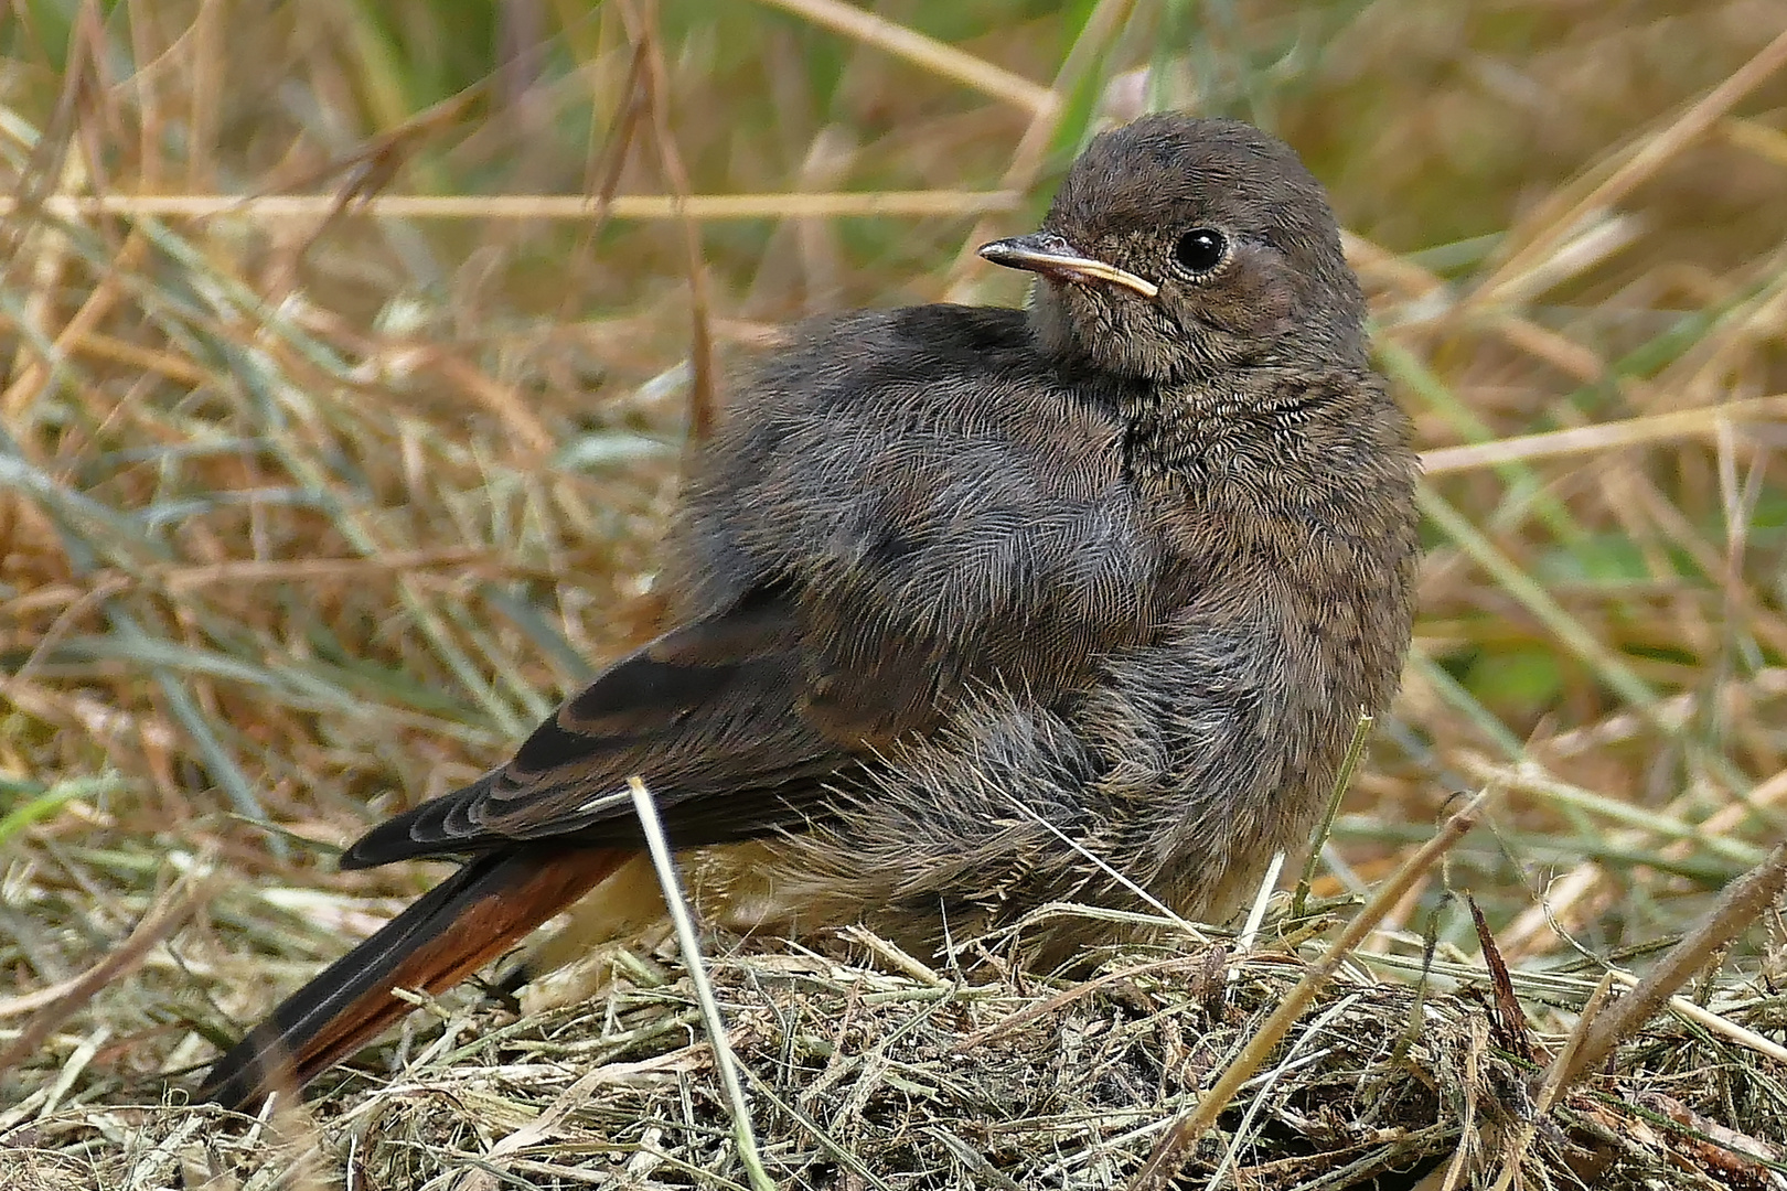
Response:
M1363 366L1365 302L1326 193L1235 120L1162 112L1104 132L1042 230L979 252L1042 279L1031 320L1063 361L1151 382Z

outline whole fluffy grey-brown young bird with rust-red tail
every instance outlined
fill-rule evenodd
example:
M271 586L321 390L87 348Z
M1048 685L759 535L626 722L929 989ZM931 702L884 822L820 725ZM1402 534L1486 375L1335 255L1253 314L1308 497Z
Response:
M1156 112L979 255L1033 275L1022 309L824 316L756 366L692 455L663 634L345 850L461 868L204 1098L302 1087L393 989L586 895L600 920L640 866L633 777L763 921L911 946L1056 902L1212 920L1306 841L1396 693L1419 562L1412 429L1324 189L1260 129ZM1113 930L1049 918L1035 954Z

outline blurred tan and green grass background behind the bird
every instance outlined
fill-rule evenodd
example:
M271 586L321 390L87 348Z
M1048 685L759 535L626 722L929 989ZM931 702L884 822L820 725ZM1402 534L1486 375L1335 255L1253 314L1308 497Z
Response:
M420 889L332 850L649 632L727 370L811 311L1020 302L963 250L1165 105L1330 186L1428 452L1417 645L1328 887L1496 784L1385 955L1474 955L1447 886L1530 966L1667 941L1787 802L1783 30L1776 0L14 0L0 1027L218 864L50 1039L59 1089L0 1073L0 1105L70 1055L82 1095L206 1059ZM236 204L268 195L315 198Z

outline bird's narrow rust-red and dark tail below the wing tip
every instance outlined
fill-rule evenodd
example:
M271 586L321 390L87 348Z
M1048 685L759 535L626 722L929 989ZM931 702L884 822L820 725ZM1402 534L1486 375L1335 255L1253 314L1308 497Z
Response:
M409 1011L391 989L441 993L459 984L629 855L541 848L470 861L286 998L213 1064L198 1095L247 1109L270 1091L302 1087Z

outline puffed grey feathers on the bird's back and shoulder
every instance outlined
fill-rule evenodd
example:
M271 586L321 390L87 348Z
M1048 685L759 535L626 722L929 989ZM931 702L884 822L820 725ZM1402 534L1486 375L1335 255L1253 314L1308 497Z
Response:
M974 350L931 350L945 327L965 327ZM740 395L704 454L690 591L726 602L784 579L810 607L863 611L945 648L997 636L1017 611L1092 632L1135 623L1133 596L1101 598L1104 577L1145 586L1154 566L1122 482L1117 395L1101 396L1038 361L1019 311L822 323Z

